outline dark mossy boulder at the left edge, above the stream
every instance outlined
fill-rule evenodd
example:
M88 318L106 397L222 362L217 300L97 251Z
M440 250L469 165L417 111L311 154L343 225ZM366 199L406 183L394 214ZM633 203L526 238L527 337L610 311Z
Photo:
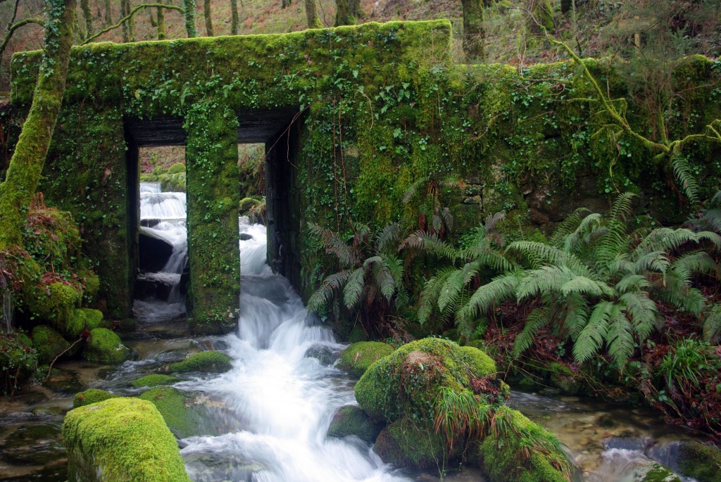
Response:
M22 334L0 334L0 393L13 393L30 383L37 352Z

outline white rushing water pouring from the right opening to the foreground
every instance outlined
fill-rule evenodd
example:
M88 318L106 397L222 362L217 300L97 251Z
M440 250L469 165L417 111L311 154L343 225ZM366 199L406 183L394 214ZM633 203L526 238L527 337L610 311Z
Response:
M183 440L190 477L218 480L213 470L220 463L227 481L407 480L360 440L325 437L335 410L355 403L353 381L304 355L311 347L342 346L329 329L309 321L288 281L270 271L265 226L242 225L241 231L251 238L240 242L239 332L225 338L234 368L192 386L224 399L243 426L218 437Z

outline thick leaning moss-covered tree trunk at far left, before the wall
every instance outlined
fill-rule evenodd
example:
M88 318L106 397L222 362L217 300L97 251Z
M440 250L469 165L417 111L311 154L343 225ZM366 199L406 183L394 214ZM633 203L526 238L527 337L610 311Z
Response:
M27 208L43 172L65 93L76 0L50 0L48 4L45 56L37 75L35 94L5 182L0 184L0 251L22 242Z

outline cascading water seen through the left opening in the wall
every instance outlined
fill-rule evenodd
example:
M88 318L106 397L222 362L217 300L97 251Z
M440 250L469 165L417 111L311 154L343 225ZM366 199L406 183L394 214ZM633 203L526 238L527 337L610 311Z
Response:
M140 184L141 230L172 246L172 252L159 272L144 272L138 280L169 287L167 300L135 300L133 311L145 321L167 320L185 314L185 295L180 293L180 277L187 262L185 192L162 192L159 183Z

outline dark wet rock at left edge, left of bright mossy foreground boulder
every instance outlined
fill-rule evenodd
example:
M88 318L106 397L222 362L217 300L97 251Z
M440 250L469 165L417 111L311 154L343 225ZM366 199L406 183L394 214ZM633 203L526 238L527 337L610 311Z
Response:
M34 423L14 430L0 445L0 456L18 465L45 465L63 458L60 422Z

